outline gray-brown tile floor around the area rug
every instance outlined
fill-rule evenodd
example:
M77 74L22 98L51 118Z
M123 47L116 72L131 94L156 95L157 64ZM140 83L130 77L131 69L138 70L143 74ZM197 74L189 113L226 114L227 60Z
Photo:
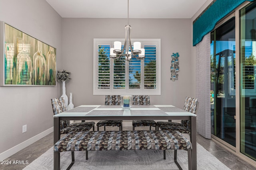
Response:
M102 129L101 129L102 128ZM108 129L110 128L110 129ZM116 129L115 129L116 128ZM137 127L138 128L138 127ZM140 129L136 130L148 130L148 127L139 127ZM146 128L146 129L145 129ZM153 128L154 129L154 128ZM103 127L100 127L100 130L103 130ZM106 127L106 130L118 130L117 127ZM123 130L132 130L132 127L123 127ZM238 158L232 152L224 149L218 143L213 140L205 139L201 135L197 134L197 142L202 145L206 150L218 158L222 163L224 163L231 170L255 170L256 167L251 166L247 162L244 162L241 158ZM40 148L38 148L38 145ZM38 158L41 154L46 152L53 145L53 133L50 133L46 137L43 137L39 141L33 143L32 145L26 147L25 149L20 150L16 154L10 156L6 161L13 162L14 160L23 160L24 164L0 164L0 170L22 170L27 166L26 160L28 163L31 163L33 160ZM207 167L206 167L207 170Z

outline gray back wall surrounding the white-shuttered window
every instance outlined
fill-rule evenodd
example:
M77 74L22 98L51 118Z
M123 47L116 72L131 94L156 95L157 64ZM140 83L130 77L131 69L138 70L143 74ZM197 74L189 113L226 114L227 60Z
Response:
M73 104L104 104L105 96L93 96L93 39L125 37L127 19L63 18L62 62L71 72L66 94L73 93ZM191 68L190 19L130 19L131 38L161 39L161 96L150 96L151 104L172 104L183 108L191 96L194 80ZM172 53L180 54L179 80L170 80Z

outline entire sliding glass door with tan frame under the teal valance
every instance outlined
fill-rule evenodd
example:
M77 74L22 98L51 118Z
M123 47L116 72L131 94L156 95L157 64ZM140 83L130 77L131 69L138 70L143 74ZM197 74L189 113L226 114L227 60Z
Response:
M245 2L211 32L212 138L256 163L256 1Z

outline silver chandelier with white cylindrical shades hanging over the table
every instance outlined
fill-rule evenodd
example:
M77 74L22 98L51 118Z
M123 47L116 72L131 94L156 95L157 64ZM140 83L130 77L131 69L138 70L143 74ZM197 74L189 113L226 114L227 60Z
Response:
M133 49L132 49L132 43L130 38L130 30L132 27L129 25L129 0L128 0L128 10L127 10L127 25L124 28L125 28L124 47L122 49L122 43L120 41L115 41L114 48L110 48L110 58L118 59L121 56L125 56L126 61L131 61L132 57L143 60L145 58L145 49L141 48L141 43L134 42Z

